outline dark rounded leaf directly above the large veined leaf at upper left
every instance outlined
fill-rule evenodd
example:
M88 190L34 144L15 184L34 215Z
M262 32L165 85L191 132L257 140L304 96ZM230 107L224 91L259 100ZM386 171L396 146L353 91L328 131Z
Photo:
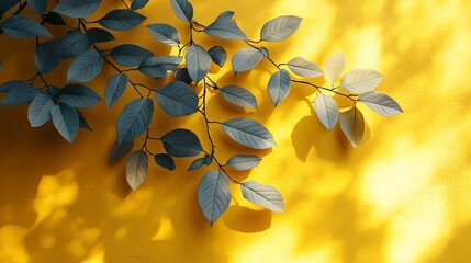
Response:
M60 57L71 58L87 52L91 47L91 41L80 31L68 32L59 39Z

